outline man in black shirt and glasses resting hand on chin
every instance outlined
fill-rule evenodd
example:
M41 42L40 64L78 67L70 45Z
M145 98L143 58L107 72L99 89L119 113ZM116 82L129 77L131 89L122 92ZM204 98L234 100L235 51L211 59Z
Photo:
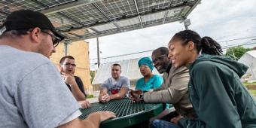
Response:
M63 56L59 60L59 70L64 78L67 87L78 101L85 100L84 84L81 78L75 76L75 58L73 56Z

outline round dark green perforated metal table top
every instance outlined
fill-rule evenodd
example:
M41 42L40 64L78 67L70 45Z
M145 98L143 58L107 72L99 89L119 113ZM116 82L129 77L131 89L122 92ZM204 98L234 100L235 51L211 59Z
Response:
M145 122L163 111L162 104L133 102L130 99L117 99L107 103L92 103L90 108L81 109L81 119L96 111L112 111L117 117L105 120L100 127L126 127Z

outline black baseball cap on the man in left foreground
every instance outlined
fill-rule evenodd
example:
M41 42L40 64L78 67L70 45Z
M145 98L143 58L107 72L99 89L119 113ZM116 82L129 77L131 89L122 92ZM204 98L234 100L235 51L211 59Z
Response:
M49 29L53 34L60 38L60 41L66 38L57 32L50 20L38 11L20 10L14 11L6 17L1 26L1 32L10 30L32 29L38 27L40 29Z

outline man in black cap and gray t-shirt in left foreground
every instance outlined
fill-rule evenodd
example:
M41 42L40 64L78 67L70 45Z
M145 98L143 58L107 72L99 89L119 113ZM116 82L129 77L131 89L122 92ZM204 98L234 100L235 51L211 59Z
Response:
M0 27L0 127L99 127L115 117L100 111L78 119L80 105L47 59L63 38L44 14L8 15Z

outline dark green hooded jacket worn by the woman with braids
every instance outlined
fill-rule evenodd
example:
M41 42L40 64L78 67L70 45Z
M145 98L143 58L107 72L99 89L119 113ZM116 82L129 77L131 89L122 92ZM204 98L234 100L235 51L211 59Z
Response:
M198 118L178 121L184 128L256 127L256 104L240 78L248 69L225 56L203 54L189 67L190 101Z

